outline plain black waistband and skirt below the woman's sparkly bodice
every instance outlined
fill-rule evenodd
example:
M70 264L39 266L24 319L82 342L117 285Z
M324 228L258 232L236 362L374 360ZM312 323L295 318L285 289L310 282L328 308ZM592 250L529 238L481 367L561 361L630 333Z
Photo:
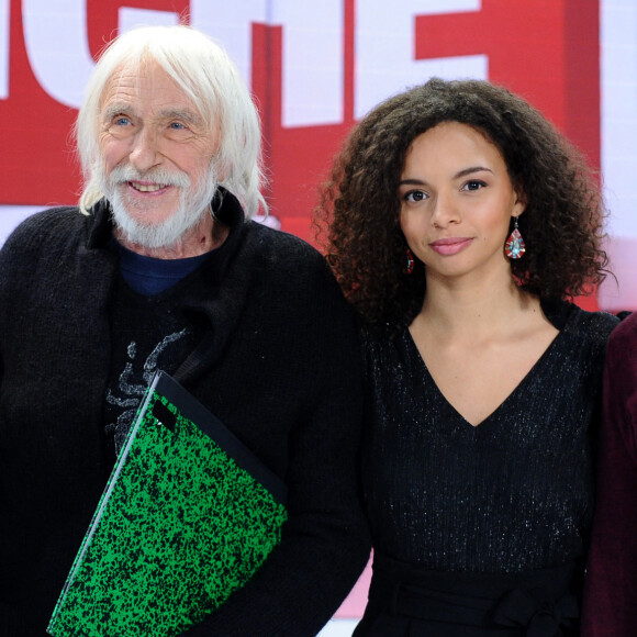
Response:
M578 635L582 567L519 573L422 570L376 555L356 637L567 637Z

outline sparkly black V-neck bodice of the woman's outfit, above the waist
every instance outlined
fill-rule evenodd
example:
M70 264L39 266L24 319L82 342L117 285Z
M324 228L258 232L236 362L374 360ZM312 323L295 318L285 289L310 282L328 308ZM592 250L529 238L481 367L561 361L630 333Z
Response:
M591 439L617 320L569 303L543 309L558 336L477 427L443 396L406 328L364 333L362 480L377 551L423 569L483 573L583 555Z

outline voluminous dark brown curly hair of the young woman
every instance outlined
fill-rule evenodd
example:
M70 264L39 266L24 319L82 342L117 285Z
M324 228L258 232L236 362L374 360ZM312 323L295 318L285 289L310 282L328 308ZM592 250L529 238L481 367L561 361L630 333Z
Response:
M318 243L345 295L367 323L409 325L425 294L424 266L403 273L399 181L415 137L442 122L472 126L502 153L526 208L524 258L512 275L540 299L590 291L607 270L605 208L581 154L524 99L483 80L433 78L375 108L354 128L323 185ZM513 220L512 220L513 227Z

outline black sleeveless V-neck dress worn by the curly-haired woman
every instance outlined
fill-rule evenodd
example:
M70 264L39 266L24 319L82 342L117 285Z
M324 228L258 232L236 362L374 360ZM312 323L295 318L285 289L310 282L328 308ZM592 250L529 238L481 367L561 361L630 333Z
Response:
M559 334L479 426L442 394L406 328L364 332L375 574L357 636L525 635L543 613L538 635L577 634L557 626L560 616L577 626L591 442L617 320L569 303L543 309ZM518 591L514 610L499 606Z

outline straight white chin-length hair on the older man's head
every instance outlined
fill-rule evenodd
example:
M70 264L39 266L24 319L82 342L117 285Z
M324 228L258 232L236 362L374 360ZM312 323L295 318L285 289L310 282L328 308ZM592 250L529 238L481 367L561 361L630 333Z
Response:
M220 131L213 160L220 186L232 192L250 219L266 201L260 192L264 175L261 131L256 107L241 74L225 51L189 26L143 26L115 38L97 63L76 121L75 134L85 186L85 213L104 197L100 178L100 108L109 80L122 68L141 69L156 62L192 101L208 127Z

